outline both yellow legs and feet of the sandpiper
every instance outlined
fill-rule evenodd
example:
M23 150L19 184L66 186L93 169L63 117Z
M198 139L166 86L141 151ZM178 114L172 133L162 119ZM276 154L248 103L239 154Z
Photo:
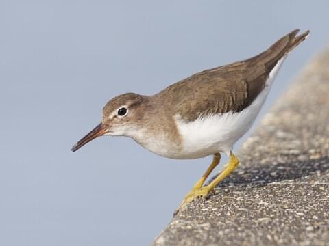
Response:
M218 156L218 157L216 157L216 156ZM218 154L216 156L214 155L214 160L212 161L210 167L208 167L208 169L207 169L206 173L204 174L204 176L202 176L202 178L195 184L193 189L186 195L186 197L184 198L182 204L180 204L179 209L184 208L184 206L186 206L186 204L188 204L188 203L192 202L193 200L195 200L196 197L206 197L208 195L208 193L210 191L212 191L212 189L214 189L217 186L217 184L219 184L219 182L221 182L224 178L226 178L226 176L228 176L231 172L233 172L234 169L236 169L236 167L239 165L239 160L231 152L230 153L230 161L226 165L225 169L223 169L223 172L221 172L221 174L219 174L219 176L217 176L215 178L215 180L212 180L212 182L210 182L210 184L202 187L202 184L204 184L204 181L206 180L206 178L208 177L210 172L212 172L212 170L219 163L220 155Z

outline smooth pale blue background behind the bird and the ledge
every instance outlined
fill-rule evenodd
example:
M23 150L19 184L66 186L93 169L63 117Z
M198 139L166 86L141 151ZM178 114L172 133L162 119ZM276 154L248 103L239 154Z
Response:
M154 94L310 29L263 114L329 41L328 9L328 1L2 0L0 245L148 245L210 158L164 159L124 137L71 146L117 94Z

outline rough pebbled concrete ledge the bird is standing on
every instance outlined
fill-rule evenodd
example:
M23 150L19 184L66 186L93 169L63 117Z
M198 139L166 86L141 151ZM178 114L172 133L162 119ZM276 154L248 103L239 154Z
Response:
M329 245L329 49L238 156L238 169L180 211L153 246Z

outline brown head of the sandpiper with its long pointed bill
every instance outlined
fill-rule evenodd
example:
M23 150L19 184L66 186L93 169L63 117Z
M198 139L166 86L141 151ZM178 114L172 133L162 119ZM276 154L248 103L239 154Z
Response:
M99 136L130 136L130 133L141 125L147 101L147 96L134 93L126 93L112 98L103 107L101 123L78 141L72 151L75 152Z

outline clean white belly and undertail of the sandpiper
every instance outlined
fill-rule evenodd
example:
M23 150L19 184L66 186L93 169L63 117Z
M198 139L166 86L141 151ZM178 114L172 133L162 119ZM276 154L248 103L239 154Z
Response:
M180 115L176 115L175 122L183 140L180 158L195 159L216 152L228 154L256 120L284 58L270 72L263 91L243 111L209 115L193 122L180 120Z

